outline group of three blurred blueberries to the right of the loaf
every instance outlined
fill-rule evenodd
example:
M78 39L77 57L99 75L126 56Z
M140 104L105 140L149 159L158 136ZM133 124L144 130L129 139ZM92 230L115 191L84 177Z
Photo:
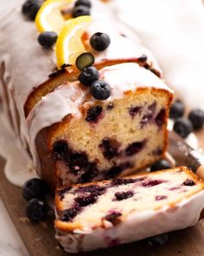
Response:
M189 112L188 118L183 117L185 106L181 100L175 100L171 105L169 117L175 120L174 131L186 138L193 130L198 130L204 124L204 111L201 109L193 109Z

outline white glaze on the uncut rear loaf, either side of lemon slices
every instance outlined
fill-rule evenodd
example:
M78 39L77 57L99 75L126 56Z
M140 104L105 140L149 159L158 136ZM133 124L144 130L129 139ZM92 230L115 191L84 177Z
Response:
M138 58L143 54L148 57L148 62L160 73L160 69L150 52L143 48L140 39L124 25L112 20L111 11L105 8L103 3L93 1L93 23L87 32L92 34L96 30L105 30L112 34L112 47L96 56L96 61L115 58ZM108 23L95 22L105 17ZM112 29L110 28L112 25ZM113 32L113 30L115 30ZM35 23L22 16L21 6L3 14L0 24L0 65L4 65L5 81L9 81L8 88L14 99L10 104L10 111L15 112L14 106L20 115L20 131L28 140L27 128L23 105L29 94L38 87L41 82L48 79L48 75L56 68L56 58L53 50L42 49L37 42L38 31ZM126 36L126 37L124 37ZM131 38L131 39L130 39ZM122 51L118 50L119 45ZM125 46L125 47L123 47ZM13 109L12 109L13 108Z

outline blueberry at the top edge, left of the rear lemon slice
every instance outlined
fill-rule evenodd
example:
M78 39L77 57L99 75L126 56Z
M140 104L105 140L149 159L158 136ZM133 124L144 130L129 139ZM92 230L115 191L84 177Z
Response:
M39 0L27 0L22 4L22 13L29 17L31 20L35 20L35 16L38 10L41 8L41 1Z

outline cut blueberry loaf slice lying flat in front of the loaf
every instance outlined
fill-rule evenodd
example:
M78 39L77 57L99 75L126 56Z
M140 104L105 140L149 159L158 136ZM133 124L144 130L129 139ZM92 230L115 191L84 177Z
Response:
M56 190L57 239L77 253L193 226L204 182L186 167Z

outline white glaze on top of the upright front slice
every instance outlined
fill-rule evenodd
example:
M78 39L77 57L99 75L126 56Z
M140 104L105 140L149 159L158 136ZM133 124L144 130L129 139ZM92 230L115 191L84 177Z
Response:
M163 89L169 93L170 98L173 94L173 91L169 89L163 80L150 70L144 69L133 62L100 69L99 78L105 80L111 86L112 95L106 100L107 102L123 98L127 92L137 92L139 88ZM69 114L80 118L83 108L97 104L97 102L90 94L89 88L77 81L62 84L35 105L27 119L30 150L33 154L35 165L37 163L35 137L41 129L61 121Z

